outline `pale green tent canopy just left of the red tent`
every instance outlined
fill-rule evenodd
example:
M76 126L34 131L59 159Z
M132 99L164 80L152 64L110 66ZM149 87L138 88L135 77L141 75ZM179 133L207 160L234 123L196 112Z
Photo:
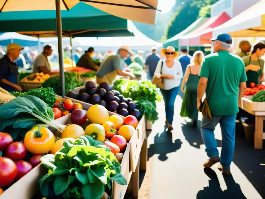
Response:
M169 38L168 40L166 40L163 43L163 47L166 48L167 46L173 46L174 48L178 49L178 51L180 51L180 49L179 49L179 38L185 34L188 34L192 31L194 31L196 28L200 27L207 19L209 19L209 18L201 17L201 18L197 19L191 25L189 25L188 28L186 28L182 32L176 34L175 36Z

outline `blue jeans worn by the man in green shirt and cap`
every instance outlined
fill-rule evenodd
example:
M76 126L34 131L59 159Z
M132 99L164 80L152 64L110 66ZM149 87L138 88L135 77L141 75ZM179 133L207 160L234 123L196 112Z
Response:
M236 115L212 115L213 119L202 118L201 136L206 146L206 153L209 158L219 156L217 142L214 138L214 129L220 123L222 132L222 150L220 164L223 168L230 168L233 161L236 136Z

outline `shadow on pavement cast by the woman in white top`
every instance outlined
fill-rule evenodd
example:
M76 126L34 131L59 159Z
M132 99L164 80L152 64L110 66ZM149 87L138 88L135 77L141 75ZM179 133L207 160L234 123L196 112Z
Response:
M180 149L182 142L177 139L172 142L172 133L166 131L166 126L163 133L158 136L158 133L154 137L154 144L150 144L147 152L147 160L154 154L159 154L158 159L161 161L167 160L166 154L172 153Z

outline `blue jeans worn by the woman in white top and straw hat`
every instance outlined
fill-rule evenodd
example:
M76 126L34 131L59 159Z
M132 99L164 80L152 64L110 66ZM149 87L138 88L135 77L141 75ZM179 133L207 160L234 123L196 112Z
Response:
M174 102L178 95L179 87L171 88L170 90L160 89L164 102L165 102L165 111L166 119L169 124L173 122L174 116Z

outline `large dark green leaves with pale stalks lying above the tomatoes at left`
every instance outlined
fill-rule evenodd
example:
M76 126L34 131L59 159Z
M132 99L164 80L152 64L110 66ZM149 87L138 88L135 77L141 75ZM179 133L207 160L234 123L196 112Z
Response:
M59 130L65 128L54 122L52 108L38 97L24 95L0 106L0 131L9 132L13 139L18 135L24 138L29 129L43 124Z

